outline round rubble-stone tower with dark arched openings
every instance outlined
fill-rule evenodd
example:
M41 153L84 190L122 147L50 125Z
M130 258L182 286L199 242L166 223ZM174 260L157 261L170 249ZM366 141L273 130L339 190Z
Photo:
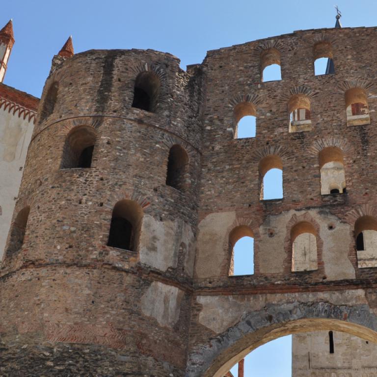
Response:
M1 269L2 376L182 376L200 71L55 57Z

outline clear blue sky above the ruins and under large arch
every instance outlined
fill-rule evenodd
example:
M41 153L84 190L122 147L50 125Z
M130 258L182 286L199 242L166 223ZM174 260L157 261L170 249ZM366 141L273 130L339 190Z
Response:
M0 27L13 18L16 39L4 83L40 97L51 59L71 34L75 52L154 49L176 55L186 69L188 64L200 63L208 50L299 29L333 27L334 3L335 0L2 1ZM339 0L338 5L343 27L376 26L376 1ZM274 182L276 176L271 179ZM250 244L242 247L250 250ZM251 376L291 376L290 337L253 351L245 363L245 377Z

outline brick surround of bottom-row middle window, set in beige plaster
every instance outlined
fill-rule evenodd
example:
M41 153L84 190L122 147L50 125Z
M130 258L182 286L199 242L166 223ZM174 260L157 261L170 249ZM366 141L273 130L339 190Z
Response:
M284 239L284 251L286 254L286 260L284 261L284 272L291 273L292 268L292 229L299 224L300 222L308 222L313 226L316 231L316 241L317 241L317 263L318 269L314 270L313 272L316 274L320 274L323 276L324 273L324 266L323 266L323 241L320 237L320 225L314 218L309 214L309 212L305 212L302 215L293 214L291 219L287 222L286 225L286 235ZM306 271L309 272L309 271ZM311 273L313 273L311 272Z

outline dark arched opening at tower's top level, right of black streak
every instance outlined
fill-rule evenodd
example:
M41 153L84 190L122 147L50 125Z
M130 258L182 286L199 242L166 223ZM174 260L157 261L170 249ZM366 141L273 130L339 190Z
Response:
M134 88L133 108L156 111L160 79L154 72L141 72L137 75Z

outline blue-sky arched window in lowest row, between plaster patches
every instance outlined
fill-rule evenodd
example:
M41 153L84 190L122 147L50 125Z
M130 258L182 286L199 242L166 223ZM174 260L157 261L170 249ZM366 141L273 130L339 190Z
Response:
M246 225L234 228L229 234L231 260L229 275L254 274L254 234Z

